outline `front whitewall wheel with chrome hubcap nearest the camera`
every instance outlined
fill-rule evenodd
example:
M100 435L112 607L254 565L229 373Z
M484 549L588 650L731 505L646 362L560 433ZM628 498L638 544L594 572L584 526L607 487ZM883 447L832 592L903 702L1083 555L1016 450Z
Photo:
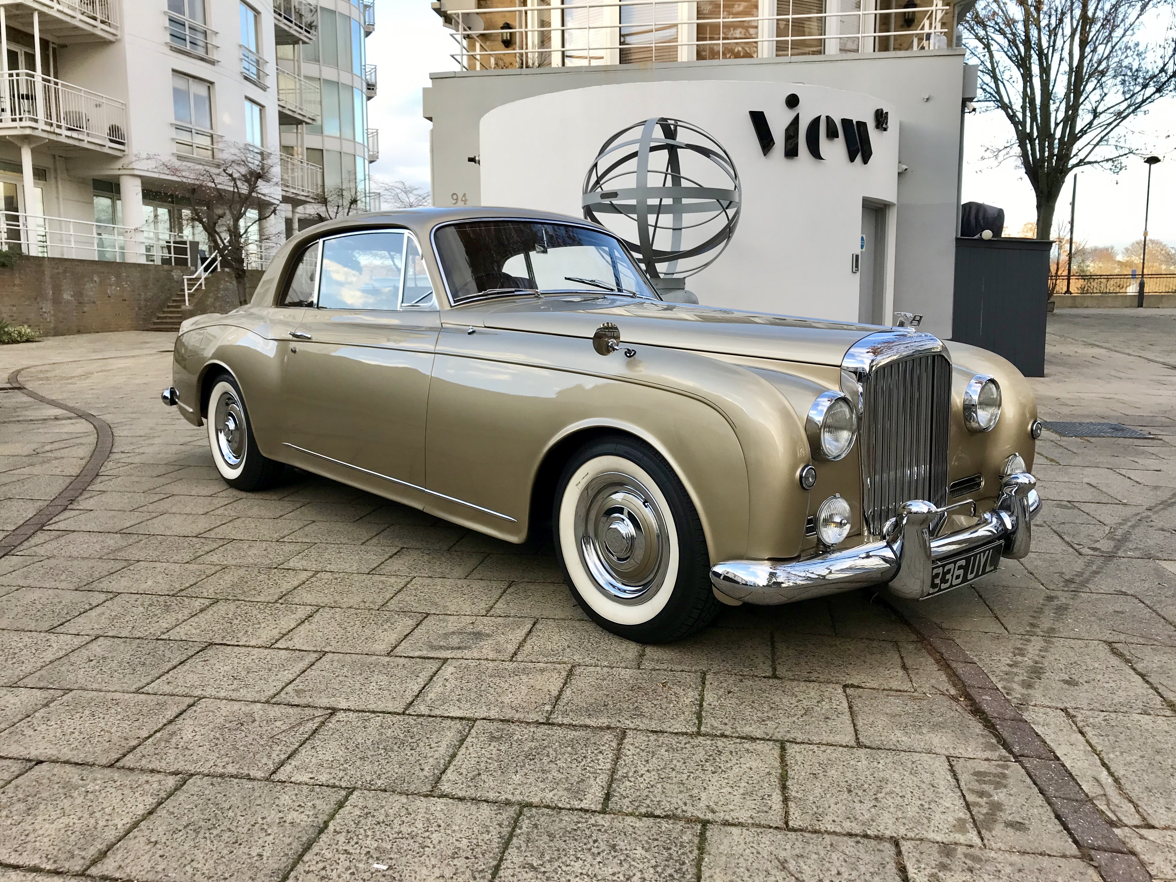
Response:
M572 592L606 630L664 643L722 609L702 523L669 465L636 440L601 440L564 466L555 546Z

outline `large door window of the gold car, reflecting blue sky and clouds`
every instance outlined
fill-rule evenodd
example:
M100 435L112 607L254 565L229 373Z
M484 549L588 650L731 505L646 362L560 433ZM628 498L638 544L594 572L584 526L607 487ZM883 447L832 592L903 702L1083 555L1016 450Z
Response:
M405 234L358 233L322 242L320 309L399 309Z

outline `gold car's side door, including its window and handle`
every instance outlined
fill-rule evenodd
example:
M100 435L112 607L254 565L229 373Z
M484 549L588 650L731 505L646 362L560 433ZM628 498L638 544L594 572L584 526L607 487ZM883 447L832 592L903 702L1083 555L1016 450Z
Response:
M410 233L389 228L320 240L314 303L290 333L286 362L293 459L420 505L439 327Z

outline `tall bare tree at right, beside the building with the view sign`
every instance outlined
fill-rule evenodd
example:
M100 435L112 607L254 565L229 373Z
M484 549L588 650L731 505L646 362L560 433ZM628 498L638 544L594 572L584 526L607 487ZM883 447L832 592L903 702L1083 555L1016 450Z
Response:
M961 22L981 96L1013 126L989 155L1021 160L1037 195L1038 239L1050 238L1067 176L1122 166L1135 152L1129 121L1176 91L1172 8L1174 0L980 0Z

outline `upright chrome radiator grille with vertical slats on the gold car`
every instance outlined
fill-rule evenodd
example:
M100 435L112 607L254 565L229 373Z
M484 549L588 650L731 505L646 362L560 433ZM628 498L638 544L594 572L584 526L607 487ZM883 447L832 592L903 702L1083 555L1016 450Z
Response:
M882 365L863 403L862 512L880 535L908 500L947 502L951 365L937 353Z

